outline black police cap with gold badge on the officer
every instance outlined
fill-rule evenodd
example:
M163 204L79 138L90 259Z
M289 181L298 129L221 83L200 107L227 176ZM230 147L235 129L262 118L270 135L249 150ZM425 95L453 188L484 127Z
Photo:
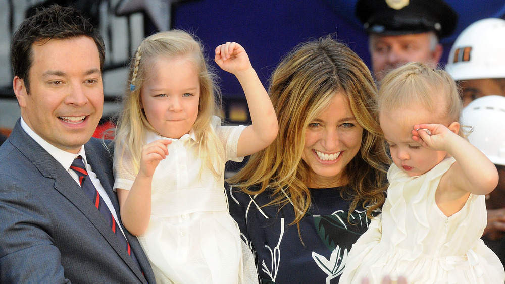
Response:
M458 14L443 0L358 0L356 16L370 33L450 35Z

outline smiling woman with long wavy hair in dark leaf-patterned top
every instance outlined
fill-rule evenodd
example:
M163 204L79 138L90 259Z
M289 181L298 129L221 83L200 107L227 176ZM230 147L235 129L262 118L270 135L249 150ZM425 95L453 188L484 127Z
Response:
M230 213L262 283L337 282L385 199L377 88L331 36L289 52L270 83L279 134L228 180Z

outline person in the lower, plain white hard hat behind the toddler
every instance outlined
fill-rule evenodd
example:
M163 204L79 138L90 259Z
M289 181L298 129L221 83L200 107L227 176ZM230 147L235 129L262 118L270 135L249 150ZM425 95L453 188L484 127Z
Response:
M472 101L463 109L462 121L473 128L470 143L498 169L498 185L486 195L487 226L482 239L505 264L505 97L491 95Z

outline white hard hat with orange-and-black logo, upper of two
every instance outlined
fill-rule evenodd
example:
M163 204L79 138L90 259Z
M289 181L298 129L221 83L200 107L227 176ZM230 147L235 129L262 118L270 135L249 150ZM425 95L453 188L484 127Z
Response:
M445 70L455 80L505 78L505 20L479 20L458 36Z

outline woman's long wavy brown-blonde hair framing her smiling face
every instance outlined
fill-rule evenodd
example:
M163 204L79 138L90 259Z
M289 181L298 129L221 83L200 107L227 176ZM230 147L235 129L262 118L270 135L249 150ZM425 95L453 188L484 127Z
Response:
M270 98L279 120L279 134L266 149L251 156L248 163L228 182L248 194L266 190L271 204L294 204L297 224L311 205L307 188L310 167L301 159L305 133L333 100L345 93L358 123L364 128L361 149L344 169L348 187L342 197L351 199L350 212L361 204L367 215L384 203L386 169L390 164L379 134L377 116L372 112L377 88L370 71L359 56L331 36L298 45L272 74ZM252 190L251 186L259 186ZM256 187L253 187L256 188Z

